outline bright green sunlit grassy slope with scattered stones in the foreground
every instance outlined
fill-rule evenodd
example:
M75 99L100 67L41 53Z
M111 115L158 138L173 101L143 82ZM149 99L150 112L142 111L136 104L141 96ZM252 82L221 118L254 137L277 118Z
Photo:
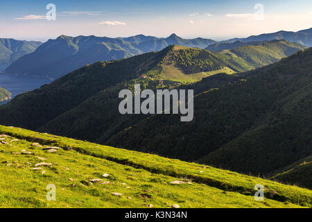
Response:
M312 206L309 189L21 128L0 133L1 207ZM264 201L254 200L257 184Z

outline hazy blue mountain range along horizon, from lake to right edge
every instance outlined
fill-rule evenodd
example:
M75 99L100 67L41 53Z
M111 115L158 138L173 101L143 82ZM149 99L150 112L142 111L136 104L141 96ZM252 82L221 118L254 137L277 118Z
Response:
M234 49L238 46L282 39L312 46L311 29L297 33L279 31L248 38L235 38L223 42L203 38L186 40L175 34L166 38L145 35L117 38L96 37L94 35L78 37L61 35L56 40L45 42L33 53L22 56L19 60L13 62L6 69L6 73L56 79L87 64L129 58L150 51L160 51L171 44L200 49L206 48L209 51L222 51L224 49Z

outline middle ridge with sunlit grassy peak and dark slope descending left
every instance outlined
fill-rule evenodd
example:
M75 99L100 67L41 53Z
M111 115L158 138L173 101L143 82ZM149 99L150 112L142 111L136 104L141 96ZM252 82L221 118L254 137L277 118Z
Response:
M116 110L119 101L115 98L121 89L133 85L133 80L140 75L147 77L144 84L149 83L147 87L153 89L175 87L176 83L193 83L218 73L234 74L252 68L237 56L168 46L157 53L97 62L33 92L21 94L0 107L0 122L105 142L137 121L121 117ZM167 81L153 84L159 78Z

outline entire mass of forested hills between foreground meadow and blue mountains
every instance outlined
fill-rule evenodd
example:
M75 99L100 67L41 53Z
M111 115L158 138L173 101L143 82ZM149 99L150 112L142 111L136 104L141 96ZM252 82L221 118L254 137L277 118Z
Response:
M96 62L0 106L0 124L235 171L274 173L311 155L312 52L291 56L304 48L286 40L220 52L174 45ZM264 65L269 66L252 70ZM153 90L194 89L194 120L119 114L120 90L135 83Z

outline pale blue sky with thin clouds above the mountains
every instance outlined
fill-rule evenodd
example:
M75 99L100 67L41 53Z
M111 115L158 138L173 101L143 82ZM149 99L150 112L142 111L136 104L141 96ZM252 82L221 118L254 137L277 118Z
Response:
M56 6L56 20L45 18ZM263 17L255 17L263 6ZM262 14L261 14L262 15ZM258 18L258 19L256 19ZM260 19L259 19L260 18ZM311 0L1 0L0 37L47 40L59 35L208 37L216 40L312 27Z

